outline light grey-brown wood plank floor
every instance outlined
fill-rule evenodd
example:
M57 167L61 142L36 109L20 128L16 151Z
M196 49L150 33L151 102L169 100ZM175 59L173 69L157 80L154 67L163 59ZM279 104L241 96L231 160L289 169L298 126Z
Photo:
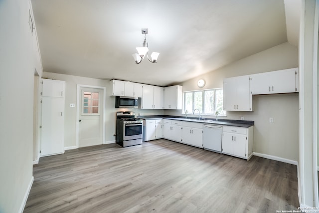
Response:
M167 141L42 157L24 213L276 213L298 210L297 167Z

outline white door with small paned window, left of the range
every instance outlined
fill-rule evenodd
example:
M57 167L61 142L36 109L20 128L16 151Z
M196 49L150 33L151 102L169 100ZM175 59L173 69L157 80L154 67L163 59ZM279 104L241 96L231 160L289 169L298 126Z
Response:
M103 143L103 89L80 87L79 147Z

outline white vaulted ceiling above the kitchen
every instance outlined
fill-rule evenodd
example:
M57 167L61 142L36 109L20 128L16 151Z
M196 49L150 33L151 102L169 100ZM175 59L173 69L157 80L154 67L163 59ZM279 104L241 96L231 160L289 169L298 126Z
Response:
M300 0L31 2L46 72L165 86L287 41L298 45ZM149 28L158 63L135 64L141 28Z

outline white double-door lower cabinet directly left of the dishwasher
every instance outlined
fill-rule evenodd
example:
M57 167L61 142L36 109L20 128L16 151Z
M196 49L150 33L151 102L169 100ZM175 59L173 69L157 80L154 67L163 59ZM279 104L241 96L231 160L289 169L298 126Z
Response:
M187 126L185 126L187 125ZM187 122L182 128L182 143L195 147L203 147L202 124Z

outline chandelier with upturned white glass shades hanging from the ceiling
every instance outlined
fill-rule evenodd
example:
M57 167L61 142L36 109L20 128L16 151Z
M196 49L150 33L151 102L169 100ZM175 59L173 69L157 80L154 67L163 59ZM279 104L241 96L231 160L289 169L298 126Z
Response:
M142 62L142 60L144 59L145 55L148 57L149 61L151 61L152 63L157 63L158 57L160 55L159 52L152 52L151 54L151 59L149 58L149 43L146 42L146 34L148 34L149 29L148 28L142 28L142 34L144 34L144 42L142 44L142 47L136 47L136 49L138 50L138 53L134 53L133 57L135 60L136 64L139 64Z

